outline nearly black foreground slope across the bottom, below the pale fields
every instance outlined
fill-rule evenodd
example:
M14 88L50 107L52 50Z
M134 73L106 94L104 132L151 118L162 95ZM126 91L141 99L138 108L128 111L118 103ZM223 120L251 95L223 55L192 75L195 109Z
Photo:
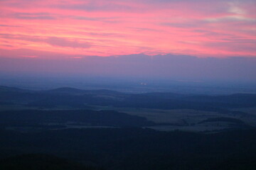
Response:
M1 130L0 157L9 160L7 163L14 161L14 164L18 164L16 159L6 158L22 154L51 154L69 159L70 162L109 170L254 170L255 144L255 129L210 134L159 132L143 128L67 129L29 133ZM58 160L54 157L53 162ZM43 156L44 159L48 157ZM32 162L33 159L25 160Z

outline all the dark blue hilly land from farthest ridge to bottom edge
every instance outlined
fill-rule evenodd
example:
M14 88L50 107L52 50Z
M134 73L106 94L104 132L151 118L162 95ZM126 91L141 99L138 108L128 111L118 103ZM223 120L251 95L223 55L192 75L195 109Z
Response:
M0 86L0 169L255 169L256 94Z

